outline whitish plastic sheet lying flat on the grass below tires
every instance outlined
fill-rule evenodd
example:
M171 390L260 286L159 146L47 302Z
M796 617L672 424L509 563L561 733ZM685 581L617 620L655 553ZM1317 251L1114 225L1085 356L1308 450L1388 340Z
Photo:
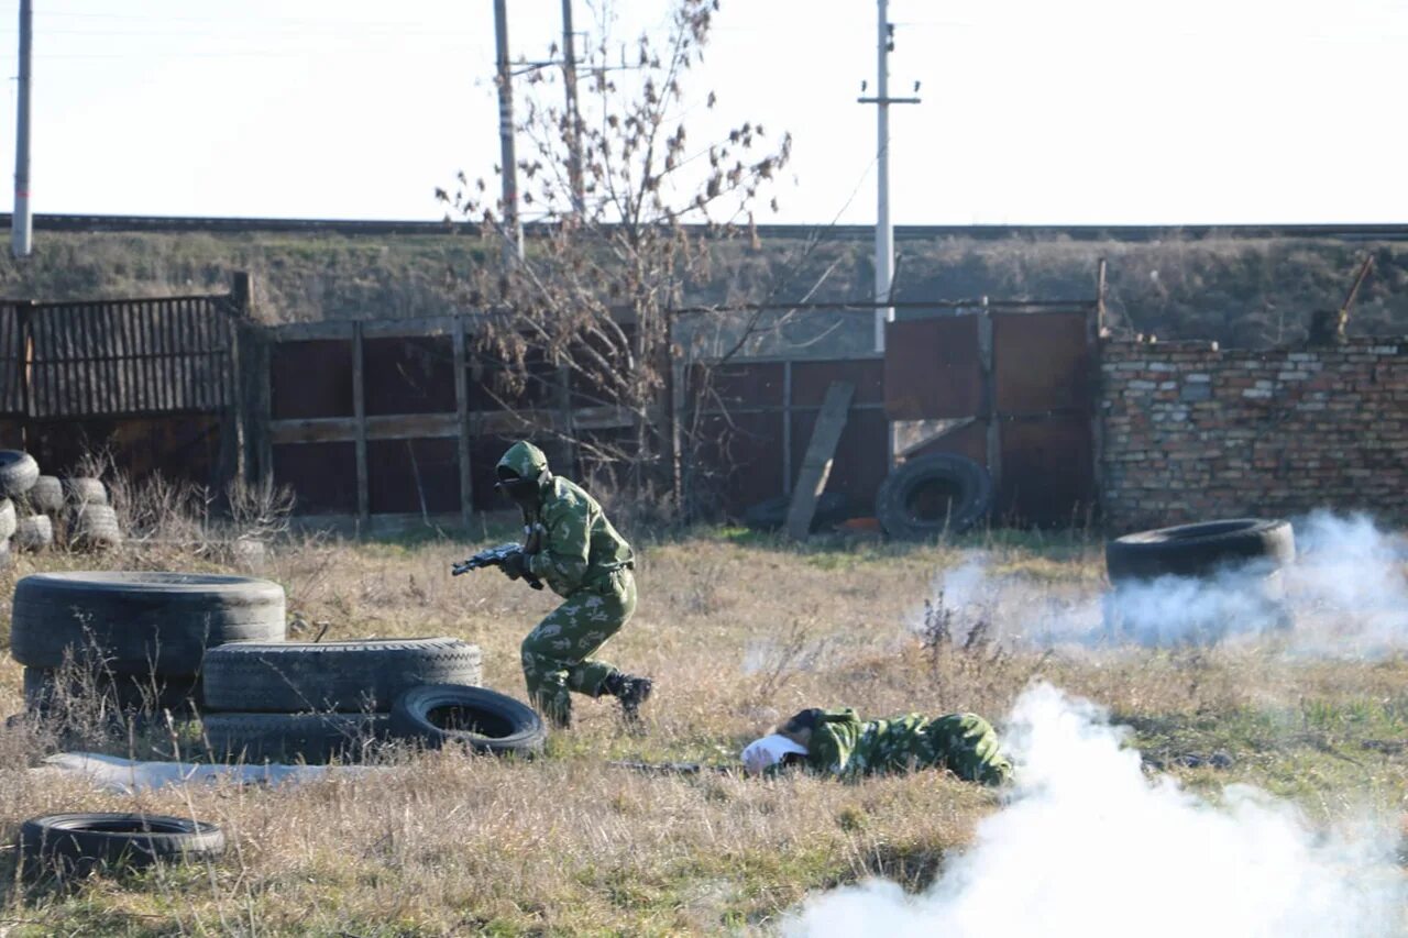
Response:
M34 772L65 772L86 777L106 792L135 794L179 784L286 784L332 777L362 777L384 772L365 765L203 765L194 762L138 762L99 752L61 752Z

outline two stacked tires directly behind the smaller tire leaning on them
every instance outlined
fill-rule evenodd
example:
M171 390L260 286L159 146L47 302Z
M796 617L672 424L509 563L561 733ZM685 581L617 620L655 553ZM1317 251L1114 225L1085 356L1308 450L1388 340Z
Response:
M479 646L456 638L237 642L206 654L203 677L206 741L230 762L355 761L391 735L403 699L491 694Z

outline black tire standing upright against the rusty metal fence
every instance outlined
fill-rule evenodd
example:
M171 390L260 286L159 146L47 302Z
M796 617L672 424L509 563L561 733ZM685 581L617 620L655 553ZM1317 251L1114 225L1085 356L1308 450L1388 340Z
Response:
M876 493L880 527L900 541L959 534L987 517L993 477L967 456L936 452L893 470Z

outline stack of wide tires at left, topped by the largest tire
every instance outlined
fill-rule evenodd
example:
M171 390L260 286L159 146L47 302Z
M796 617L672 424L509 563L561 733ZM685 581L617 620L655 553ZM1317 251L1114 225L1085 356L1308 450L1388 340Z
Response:
M101 697L127 713L200 703L206 649L284 637L277 583L207 573L34 573L14 590L10 654L30 713Z

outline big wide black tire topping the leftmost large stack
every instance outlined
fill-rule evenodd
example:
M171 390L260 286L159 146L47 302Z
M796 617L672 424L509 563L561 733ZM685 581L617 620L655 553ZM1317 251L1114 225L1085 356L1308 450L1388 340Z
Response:
M284 637L283 589L211 573L34 573L14 589L10 654L30 668L101 655L124 675L194 675L206 648Z

